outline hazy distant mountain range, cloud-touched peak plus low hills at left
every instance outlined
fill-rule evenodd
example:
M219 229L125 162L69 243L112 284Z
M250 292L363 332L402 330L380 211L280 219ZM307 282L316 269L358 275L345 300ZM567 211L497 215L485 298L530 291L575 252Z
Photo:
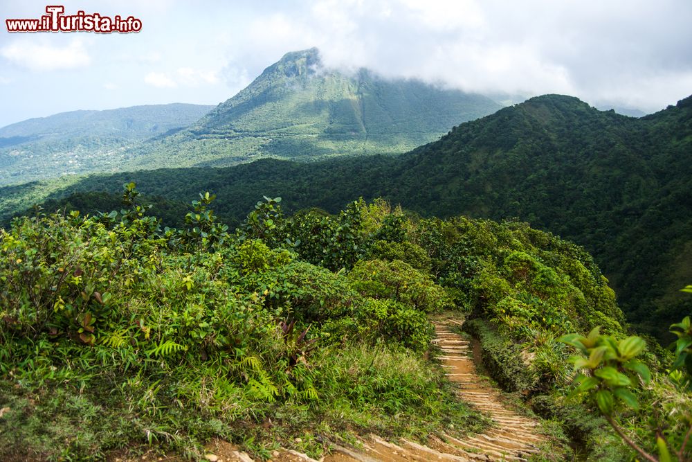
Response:
M327 69L311 48L287 53L211 112L209 106L143 106L5 127L0 184L69 173L232 166L263 157L402 153L501 107L419 80Z

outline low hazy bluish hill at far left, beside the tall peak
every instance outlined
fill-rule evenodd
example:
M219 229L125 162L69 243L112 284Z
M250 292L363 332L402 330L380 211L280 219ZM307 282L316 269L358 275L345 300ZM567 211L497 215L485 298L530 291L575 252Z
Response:
M213 106L170 104L62 112L0 128L0 184L121 170L133 143L180 130Z

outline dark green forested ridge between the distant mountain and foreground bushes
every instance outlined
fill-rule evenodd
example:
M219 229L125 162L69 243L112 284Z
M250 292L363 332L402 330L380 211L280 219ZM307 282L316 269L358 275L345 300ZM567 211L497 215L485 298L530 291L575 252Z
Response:
M211 190L219 196L215 210L231 224L262 195L281 196L294 211L336 211L362 195L421 215L518 217L583 245L628 319L661 337L692 309L679 292L692 281L691 153L692 97L630 118L548 95L463 123L401 157L265 159L235 168L99 175L3 188L0 207L3 213L26 210L48 190L53 200L107 190L116 193L110 196L116 206L122 184L136 181L147 196L178 204ZM88 194L72 199L90 200Z

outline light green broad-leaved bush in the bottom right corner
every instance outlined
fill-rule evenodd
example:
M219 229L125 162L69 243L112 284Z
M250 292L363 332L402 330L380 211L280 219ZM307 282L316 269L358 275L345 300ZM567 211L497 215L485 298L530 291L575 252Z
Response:
M671 326L678 333L685 327L689 317ZM652 374L639 359L646 342L637 336L617 339L594 328L588 336L568 334L559 341L579 353L571 359L580 371L571 396L583 397L597 409L642 459L672 461L675 454L680 462L692 460L692 395L684 389L690 378L686 369ZM673 367L684 364L684 343L674 345Z

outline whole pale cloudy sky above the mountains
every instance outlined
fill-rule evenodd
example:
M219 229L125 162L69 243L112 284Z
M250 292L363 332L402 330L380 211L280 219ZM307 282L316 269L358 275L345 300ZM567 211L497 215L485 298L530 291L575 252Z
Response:
M13 33L4 20L140 19L139 33ZM199 5L205 7L198 8ZM0 0L0 126L75 109L218 104L288 51L482 93L663 109L692 94L690 0Z

